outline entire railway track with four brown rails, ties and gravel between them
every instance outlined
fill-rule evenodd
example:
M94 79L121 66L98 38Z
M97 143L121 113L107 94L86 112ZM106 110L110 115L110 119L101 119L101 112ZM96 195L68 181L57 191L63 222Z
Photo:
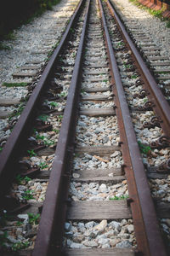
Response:
M106 3L79 7L0 155L3 244L19 255L167 255L157 218L169 213L146 177L169 170L167 100Z

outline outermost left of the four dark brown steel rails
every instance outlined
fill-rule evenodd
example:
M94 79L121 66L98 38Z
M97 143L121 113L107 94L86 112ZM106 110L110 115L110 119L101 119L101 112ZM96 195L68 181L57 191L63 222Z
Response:
M58 47L54 50L54 54L48 61L48 65L45 67L41 79L38 81L35 90L32 92L31 97L26 104L26 108L21 113L20 119L16 125L14 125L14 130L12 131L10 137L8 137L8 141L3 148L3 152L0 154L0 198L5 195L14 179L14 175L18 167L17 158L25 146L26 137L28 137L30 134L33 119L35 119L37 116L36 108L40 102L42 92L48 86L49 78L54 72L54 66L57 58L70 35L71 27L74 26L80 10L82 9L83 3L85 3L85 0L81 0L78 4L76 11L74 15L72 15L70 23L67 26L61 41L59 42Z

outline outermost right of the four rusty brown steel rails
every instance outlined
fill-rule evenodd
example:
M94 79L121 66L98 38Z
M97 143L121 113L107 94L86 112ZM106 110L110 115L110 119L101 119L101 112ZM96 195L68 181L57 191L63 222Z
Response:
M133 44L133 41L131 38L129 38L125 27L123 26L121 20L119 19L118 15L116 14L115 9L113 9L113 6L111 4L110 0L106 1L109 9L111 10L111 14L115 17L117 26L119 26L123 38L125 38L128 47L132 50L133 56L135 61L138 64L139 70L142 73L142 76L144 78L144 82L147 83L147 90L149 88L150 90L150 99L155 103L155 106L153 108L155 109L157 115L161 117L162 123L161 127L163 131L165 132L165 135L169 136L169 127L170 127L170 107L169 104L167 103L167 100L165 97L162 95L161 90L158 88L156 84L156 80L153 78L153 76L150 73L150 70L148 67L146 67L142 57L139 55L139 51L136 49L136 47Z

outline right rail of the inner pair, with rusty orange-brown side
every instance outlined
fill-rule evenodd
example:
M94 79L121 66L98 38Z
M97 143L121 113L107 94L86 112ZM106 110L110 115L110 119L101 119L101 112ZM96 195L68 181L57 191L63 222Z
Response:
M144 165L139 152L139 146L133 130L133 123L129 113L126 96L122 86L121 76L116 64L116 57L111 44L105 15L101 1L99 0L100 14L105 30L105 38L112 73L114 74L116 92L119 98L119 105L122 112L122 125L126 132L128 151L131 157L132 170L126 172L128 191L133 213L133 224L139 253L150 256L167 255L161 238L159 224L156 218L155 207L150 195L150 187L144 172ZM127 153L128 154L128 153ZM126 168L125 168L126 171ZM141 219L142 218L142 219Z

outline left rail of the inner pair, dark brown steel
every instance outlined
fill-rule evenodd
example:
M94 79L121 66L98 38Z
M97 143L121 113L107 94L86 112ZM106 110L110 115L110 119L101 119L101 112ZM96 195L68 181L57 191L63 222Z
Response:
M82 78L82 52L88 25L89 7L90 0L88 0L87 13L77 50L76 63L67 96L64 117L59 131L59 140L32 256L55 255L55 253L57 255L62 254L62 233L64 230L67 191L71 172L69 162L74 149L77 103L80 94L80 87L78 85Z

